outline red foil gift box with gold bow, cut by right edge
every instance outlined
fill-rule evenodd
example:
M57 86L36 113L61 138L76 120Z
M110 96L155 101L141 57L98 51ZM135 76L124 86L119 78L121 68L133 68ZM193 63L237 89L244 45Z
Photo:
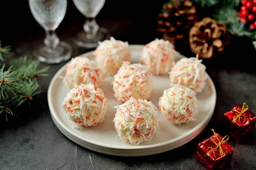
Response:
M253 131L256 115L249 111L245 103L243 105L239 103L231 111L224 114L224 122L228 125L230 137L240 143Z

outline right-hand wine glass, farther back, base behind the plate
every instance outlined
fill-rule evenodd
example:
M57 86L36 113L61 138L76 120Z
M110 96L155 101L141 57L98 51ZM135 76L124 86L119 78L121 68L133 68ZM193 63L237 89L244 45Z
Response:
M110 34L106 28L99 28L95 17L105 4L105 0L73 0L76 8L87 19L84 23L84 31L79 32L73 38L74 42L85 48L95 48L99 41L109 39Z

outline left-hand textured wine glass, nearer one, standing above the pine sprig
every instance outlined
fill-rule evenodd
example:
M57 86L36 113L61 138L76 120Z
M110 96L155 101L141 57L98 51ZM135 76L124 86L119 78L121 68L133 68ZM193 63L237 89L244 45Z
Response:
M49 64L69 59L72 54L71 46L60 42L55 33L66 14L67 0L29 0L29 8L35 20L46 31L44 45L35 48L33 56Z

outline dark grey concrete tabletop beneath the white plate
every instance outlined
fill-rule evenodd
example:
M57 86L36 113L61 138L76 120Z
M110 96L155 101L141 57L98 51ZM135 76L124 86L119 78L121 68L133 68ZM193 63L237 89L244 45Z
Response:
M127 40L131 44L145 44L148 40L154 40L154 37L137 40L136 35L131 33L125 35L128 31L121 29L121 26L129 25L131 21L120 22L123 23L111 24L111 33L116 39ZM73 57L89 51L78 48L71 41L70 37L76 31L73 27L57 31L61 40L73 46ZM16 56L31 54L32 47L42 42L42 38L44 35L37 35L16 42L13 45ZM239 102L247 102L250 110L256 113L256 71L252 62L256 54L254 49L251 50L253 53L244 51L250 42L244 41L245 47L241 47L240 39L236 39L221 56L223 58L204 61L216 87L217 102L211 121L191 142L157 155L119 157L96 153L70 141L54 125L47 103L49 82L65 64L61 63L50 65L48 77L38 78L42 92L31 101L32 111L25 102L15 111L18 118L9 117L7 123L3 120L0 122L0 170L204 170L195 159L195 147L212 135L212 128L221 136L227 134L222 124L224 112ZM240 56L235 58L234 54ZM238 60L234 62L234 59ZM40 65L41 68L44 66ZM231 139L228 142L234 147L234 153L224 170L256 170L256 129L241 144Z

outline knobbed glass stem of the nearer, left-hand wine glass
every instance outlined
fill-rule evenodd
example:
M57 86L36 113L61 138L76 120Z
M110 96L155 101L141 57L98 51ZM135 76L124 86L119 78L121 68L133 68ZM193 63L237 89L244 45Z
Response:
M47 30L44 44L47 47L47 51L54 50L60 42L55 30Z

